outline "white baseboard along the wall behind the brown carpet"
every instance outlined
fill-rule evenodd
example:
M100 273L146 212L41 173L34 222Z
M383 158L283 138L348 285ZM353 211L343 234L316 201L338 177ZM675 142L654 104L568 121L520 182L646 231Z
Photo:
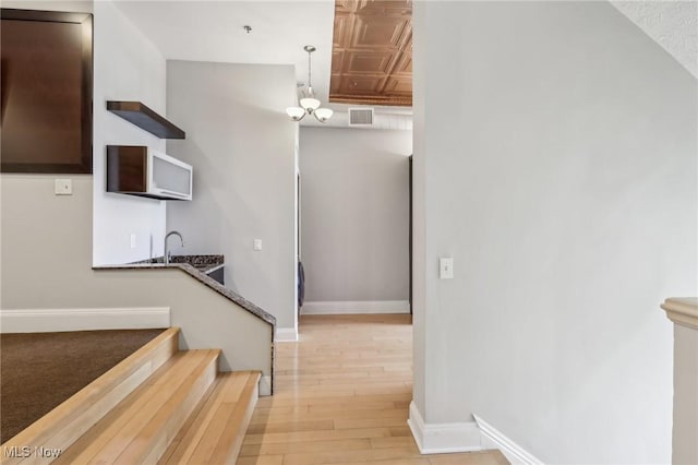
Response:
M169 326L170 309L166 307L0 310L2 333L143 330Z

